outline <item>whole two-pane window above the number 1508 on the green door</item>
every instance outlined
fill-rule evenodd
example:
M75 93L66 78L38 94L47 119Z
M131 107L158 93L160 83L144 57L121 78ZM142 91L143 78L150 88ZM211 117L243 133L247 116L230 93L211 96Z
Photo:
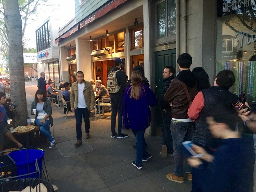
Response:
M157 4L157 37L176 34L175 0L166 0Z

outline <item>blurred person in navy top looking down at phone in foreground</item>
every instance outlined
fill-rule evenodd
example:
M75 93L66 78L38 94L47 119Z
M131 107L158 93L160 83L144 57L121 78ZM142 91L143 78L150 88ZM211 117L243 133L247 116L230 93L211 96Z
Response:
M241 137L237 129L238 112L231 104L219 103L207 114L212 136L222 144L214 155L203 147L193 145L198 158L191 156L188 164L197 169L193 175L192 192L242 192L252 191L255 154L253 141Z

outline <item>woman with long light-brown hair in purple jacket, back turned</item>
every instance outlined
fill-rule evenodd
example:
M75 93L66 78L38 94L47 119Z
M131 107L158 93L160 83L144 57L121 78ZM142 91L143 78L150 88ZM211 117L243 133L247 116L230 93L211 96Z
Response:
M123 118L126 129L132 129L137 141L136 159L132 162L138 169L142 161L152 157L147 153L144 133L151 122L149 106L157 104L157 98L151 89L142 83L142 75L134 71L131 75L131 85L126 88L123 97Z

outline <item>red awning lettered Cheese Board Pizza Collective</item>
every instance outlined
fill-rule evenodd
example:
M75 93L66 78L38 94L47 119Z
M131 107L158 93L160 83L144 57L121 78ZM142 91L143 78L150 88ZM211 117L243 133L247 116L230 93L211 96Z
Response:
M107 4L105 7L101 8L100 10L96 11L94 14L90 15L89 17L83 19L79 24L75 25L75 27L72 27L68 32L66 32L64 35L61 35L57 39L55 39L55 44L59 42L60 39L66 38L73 33L77 32L78 30L82 29L89 23L94 22L99 17L102 17L109 11L117 8L118 5L121 5L122 3L126 2L127 0L114 0L111 3Z

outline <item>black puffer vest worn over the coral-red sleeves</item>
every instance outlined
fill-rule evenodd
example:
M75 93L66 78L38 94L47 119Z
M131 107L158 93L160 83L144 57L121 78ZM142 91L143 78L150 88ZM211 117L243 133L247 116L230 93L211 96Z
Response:
M192 140L208 148L217 148L220 144L219 139L212 137L206 122L206 115L217 103L229 103L232 105L233 102L238 100L238 96L219 86L203 89L202 93L204 106L195 121Z

